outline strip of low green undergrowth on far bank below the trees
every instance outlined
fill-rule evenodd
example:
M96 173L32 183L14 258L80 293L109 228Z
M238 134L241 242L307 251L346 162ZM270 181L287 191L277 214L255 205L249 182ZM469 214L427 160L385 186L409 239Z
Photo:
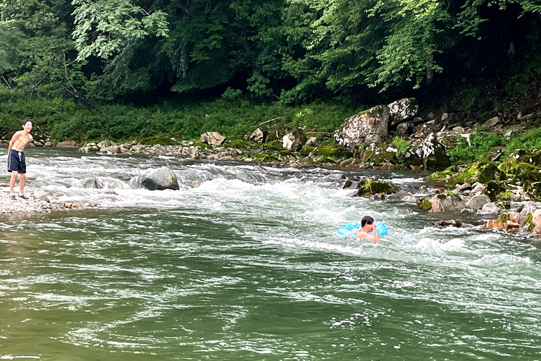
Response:
M56 140L123 141L145 137L175 136L192 140L207 131L217 131L235 140L263 130L303 127L306 133L326 138L358 109L340 104L313 103L283 106L260 104L250 99L164 101L153 106L107 104L87 109L66 99L32 100L0 88L0 134L19 130L23 118L46 128Z

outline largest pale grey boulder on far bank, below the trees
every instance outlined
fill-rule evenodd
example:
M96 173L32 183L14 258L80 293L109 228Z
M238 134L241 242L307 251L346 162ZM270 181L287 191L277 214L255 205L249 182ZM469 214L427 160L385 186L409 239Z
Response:
M355 147L363 142L377 142L387 135L387 123L389 107L374 106L347 118L336 130L335 140L346 147Z

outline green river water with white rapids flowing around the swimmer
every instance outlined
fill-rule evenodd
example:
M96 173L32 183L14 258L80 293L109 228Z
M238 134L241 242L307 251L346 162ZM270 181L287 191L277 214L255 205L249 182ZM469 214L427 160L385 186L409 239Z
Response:
M29 190L85 208L0 214L0 360L541 360L535 243L435 228L325 169L35 148L27 163ZM180 190L132 187L160 166ZM380 244L337 235L366 214L390 228Z

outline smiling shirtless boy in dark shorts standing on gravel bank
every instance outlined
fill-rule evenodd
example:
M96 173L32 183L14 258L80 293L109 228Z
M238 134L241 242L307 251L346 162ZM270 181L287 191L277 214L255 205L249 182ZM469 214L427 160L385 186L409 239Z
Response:
M8 145L8 172L11 172L11 178L9 180L9 199L16 200L17 198L13 194L13 188L15 187L15 180L17 175L20 174L19 179L19 197L23 200L27 200L25 195L25 183L26 183L26 162L25 162L25 147L34 137L30 135L32 130L32 120L25 119L23 121L23 130L19 130L13 134L11 141Z

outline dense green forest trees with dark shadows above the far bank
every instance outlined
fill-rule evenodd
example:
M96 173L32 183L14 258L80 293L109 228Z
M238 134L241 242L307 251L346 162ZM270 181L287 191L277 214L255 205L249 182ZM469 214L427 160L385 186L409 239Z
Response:
M3 0L0 44L4 91L87 109L416 97L479 116L541 104L539 0Z

